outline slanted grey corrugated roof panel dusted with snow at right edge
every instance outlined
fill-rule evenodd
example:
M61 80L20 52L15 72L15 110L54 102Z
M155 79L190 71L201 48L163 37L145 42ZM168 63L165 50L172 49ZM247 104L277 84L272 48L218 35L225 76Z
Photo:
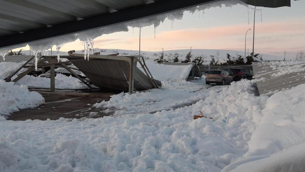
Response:
M271 68L266 62L253 62L253 72L256 79L266 78L265 80L256 82L260 95L271 96L277 91L291 89L297 85L305 84L305 71L271 77L273 73L278 72L277 69Z

